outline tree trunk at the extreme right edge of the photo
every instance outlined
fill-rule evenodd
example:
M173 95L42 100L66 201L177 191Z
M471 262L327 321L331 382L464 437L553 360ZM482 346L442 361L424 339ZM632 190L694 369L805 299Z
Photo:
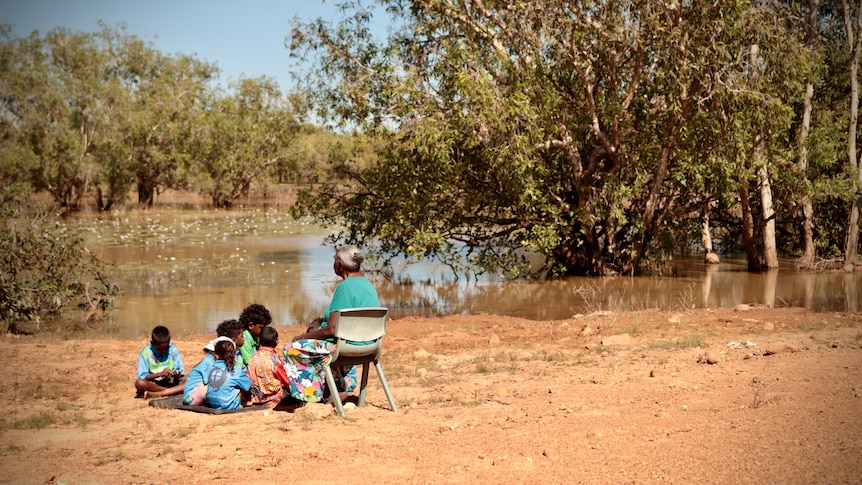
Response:
M860 15L862 15L862 5L856 5L855 12L852 12L847 0L841 0L841 6L844 10L844 28L847 30L847 47L850 49L850 127L847 136L847 155L850 160L850 166L856 171L857 178L854 180L854 185L858 187L862 185L862 172L859 171L859 164L856 158L856 125L859 121L859 50L862 43L862 35L859 35L855 28L860 27ZM855 37L855 39L854 39ZM850 207L850 224L847 227L847 238L844 242L844 270L853 271L856 265L856 255L859 247L859 205L860 197L858 192L854 194L853 204Z

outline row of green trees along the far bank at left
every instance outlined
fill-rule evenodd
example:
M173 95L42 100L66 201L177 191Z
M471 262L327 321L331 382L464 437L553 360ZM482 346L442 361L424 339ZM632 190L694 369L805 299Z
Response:
M314 182L329 146L302 99L268 77L227 87L214 64L164 54L123 26L12 36L0 25L0 186L86 196L109 210L137 193L197 191L227 207L253 187Z

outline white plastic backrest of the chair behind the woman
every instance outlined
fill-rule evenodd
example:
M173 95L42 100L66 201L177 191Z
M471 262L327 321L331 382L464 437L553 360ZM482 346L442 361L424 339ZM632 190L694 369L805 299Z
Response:
M389 310L382 307L340 310L335 321L338 356L379 354L388 316Z

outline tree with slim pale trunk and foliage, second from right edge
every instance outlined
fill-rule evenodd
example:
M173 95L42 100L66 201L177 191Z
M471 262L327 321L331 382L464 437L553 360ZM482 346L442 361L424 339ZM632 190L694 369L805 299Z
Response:
M798 155L795 166L782 172L787 182L782 197L795 209L778 214L796 230L779 236L788 252L800 254L799 267L820 267L844 260L856 178L847 163L851 52L840 0L784 3L788 28L796 32L788 37L799 38L804 57L799 76L787 77L804 80L805 90L782 93L796 112L788 145L795 142ZM800 99L793 101L794 96Z

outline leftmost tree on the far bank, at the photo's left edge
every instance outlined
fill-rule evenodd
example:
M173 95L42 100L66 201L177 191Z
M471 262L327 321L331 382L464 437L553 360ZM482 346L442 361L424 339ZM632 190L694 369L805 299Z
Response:
M76 209L98 176L92 152L106 116L100 93L110 81L97 38L57 28L3 42L7 169Z

